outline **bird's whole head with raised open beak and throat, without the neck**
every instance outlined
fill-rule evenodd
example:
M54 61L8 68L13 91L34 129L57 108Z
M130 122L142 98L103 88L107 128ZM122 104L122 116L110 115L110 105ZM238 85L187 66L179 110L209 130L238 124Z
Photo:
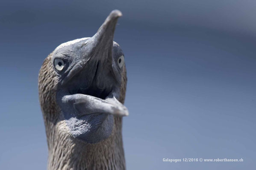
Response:
M93 37L65 42L45 59L38 87L46 125L62 121L71 136L95 143L108 138L115 121L128 115L124 53L113 42L121 16L112 11Z

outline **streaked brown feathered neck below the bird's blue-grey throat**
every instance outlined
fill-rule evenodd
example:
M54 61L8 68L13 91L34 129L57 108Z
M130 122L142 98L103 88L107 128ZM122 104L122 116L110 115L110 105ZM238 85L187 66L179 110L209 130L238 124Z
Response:
M112 135L101 142L88 144L67 134L65 121L46 125L48 170L111 169L124 170L122 118L115 118Z

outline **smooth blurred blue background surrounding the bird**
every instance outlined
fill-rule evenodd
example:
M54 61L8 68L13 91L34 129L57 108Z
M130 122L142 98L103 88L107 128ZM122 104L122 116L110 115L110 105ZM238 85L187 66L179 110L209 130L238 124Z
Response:
M127 169L255 169L255 0L1 0L0 169L46 169L38 71L113 9L123 13L114 40L127 66Z

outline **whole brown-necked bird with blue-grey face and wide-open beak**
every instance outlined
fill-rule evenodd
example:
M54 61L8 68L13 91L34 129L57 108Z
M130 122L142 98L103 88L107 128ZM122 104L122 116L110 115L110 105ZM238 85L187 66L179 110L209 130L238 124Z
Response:
M97 33L59 45L38 74L48 170L125 170L122 121L127 70L113 41L121 11Z

